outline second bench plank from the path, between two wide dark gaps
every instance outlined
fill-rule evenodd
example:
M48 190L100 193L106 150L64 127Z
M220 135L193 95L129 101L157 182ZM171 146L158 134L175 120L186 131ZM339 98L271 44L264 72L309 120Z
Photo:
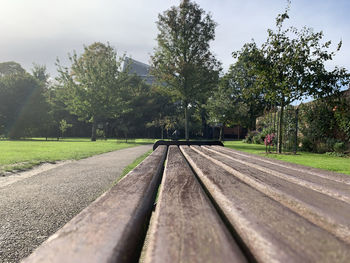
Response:
M145 262L245 262L177 146L169 146Z

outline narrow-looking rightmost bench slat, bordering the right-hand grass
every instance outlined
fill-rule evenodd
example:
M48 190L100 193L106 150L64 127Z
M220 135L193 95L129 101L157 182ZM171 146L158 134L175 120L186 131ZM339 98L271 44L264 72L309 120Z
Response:
M308 178L312 180L315 178L317 180L317 178L320 177L328 180L333 180L335 182L339 182L342 184L350 185L350 176L347 174L335 173L335 172L308 167L300 164L288 163L288 162L276 160L276 159L271 160L263 156L258 156L258 155L254 155L246 152L240 152L240 151L237 151L231 148L226 148L226 147L212 146L210 148L216 151L228 154L235 158L238 156L241 156L244 159L249 159L252 162L254 162L254 160L264 162L268 165L271 165L271 168L272 169L275 168L277 171L280 170L281 168L282 169L288 168L290 171L293 171L294 173L302 172L305 176L311 175L311 177L308 176Z

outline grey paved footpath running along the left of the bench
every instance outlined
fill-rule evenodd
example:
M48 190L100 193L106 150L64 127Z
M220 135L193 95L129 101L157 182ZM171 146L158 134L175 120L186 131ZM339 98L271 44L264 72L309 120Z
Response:
M29 255L151 148L105 153L0 184L0 262L18 262Z

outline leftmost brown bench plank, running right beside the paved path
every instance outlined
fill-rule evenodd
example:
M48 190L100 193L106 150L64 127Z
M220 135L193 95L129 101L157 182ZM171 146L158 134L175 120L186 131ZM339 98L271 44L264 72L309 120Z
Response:
M166 152L158 147L23 262L137 261Z

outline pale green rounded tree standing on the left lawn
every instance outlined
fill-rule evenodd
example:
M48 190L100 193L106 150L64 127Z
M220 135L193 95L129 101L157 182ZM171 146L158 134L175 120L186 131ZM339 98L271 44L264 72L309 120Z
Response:
M84 53L69 55L71 68L57 61L58 81L64 88L63 100L72 114L92 123L91 140L96 141L97 124L118 112L119 89L122 85L116 51L99 42L84 47Z

